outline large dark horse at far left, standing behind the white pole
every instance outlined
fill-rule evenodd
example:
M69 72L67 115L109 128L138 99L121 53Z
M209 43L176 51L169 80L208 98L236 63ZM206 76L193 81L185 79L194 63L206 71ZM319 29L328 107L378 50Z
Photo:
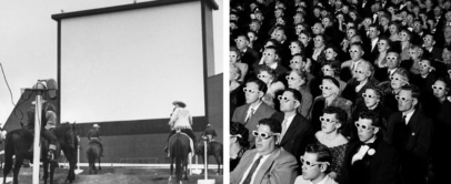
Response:
M73 152L74 149L68 149L67 146L72 146L74 147L77 140L73 140L73 129L74 125L70 125L69 123L61 124L57 129L54 129L54 133L59 140L59 144L57 145L57 150L54 153L54 157L58 159L61 152L61 149L64 147L63 152L68 157L69 163L72 163L72 167L74 168L74 163L76 161L72 157L76 157L77 152ZM13 168L13 184L18 184L18 175L19 175L19 170L20 166L23 163L24 159L28 159L32 162L33 160L33 153L30 151L30 149L33 145L33 139L34 135L27 130L19 129L19 130L13 130L9 133L7 133L7 137L4 140L4 168L3 168L3 183L6 183L7 176L9 172L12 168L12 156L16 155L16 164ZM50 183L53 183L53 173L54 168L58 167L57 162L51 162L48 159L48 146L47 142L41 139L41 161L43 164L43 181L44 184L47 184L47 178L49 177L49 164L50 164ZM76 154L72 154L76 153ZM68 156L69 155L69 156ZM73 172L73 170L72 170ZM71 173L69 173L68 178L70 177ZM74 180L74 173L73 173L73 180ZM72 180L72 181L73 181ZM70 181L70 180L68 180Z

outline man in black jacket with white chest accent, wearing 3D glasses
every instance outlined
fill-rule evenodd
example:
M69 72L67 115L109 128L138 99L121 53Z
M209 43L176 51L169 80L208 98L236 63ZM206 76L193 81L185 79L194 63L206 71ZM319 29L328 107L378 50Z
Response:
M394 183L397 150L384 142L379 114L362 111L355 122L359 141L349 144L340 184Z

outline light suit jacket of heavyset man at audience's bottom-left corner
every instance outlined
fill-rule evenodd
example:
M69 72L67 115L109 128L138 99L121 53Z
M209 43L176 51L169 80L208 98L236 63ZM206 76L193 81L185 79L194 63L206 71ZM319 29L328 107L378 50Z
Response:
M243 177L257 154L257 149L249 150L241 157L240 163L230 173L230 184L238 184ZM253 180L253 184L292 184L298 176L298 162L294 156L283 149L277 149L264 161Z

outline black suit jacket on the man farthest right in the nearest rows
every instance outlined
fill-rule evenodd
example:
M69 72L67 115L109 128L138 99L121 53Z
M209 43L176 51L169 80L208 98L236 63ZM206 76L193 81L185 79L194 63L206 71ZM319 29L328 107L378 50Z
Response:
M424 167L431 145L432 121L418 109L413 112L408 125L401 120L402 112L390 115L387 141L398 149L400 155L403 155L401 166Z

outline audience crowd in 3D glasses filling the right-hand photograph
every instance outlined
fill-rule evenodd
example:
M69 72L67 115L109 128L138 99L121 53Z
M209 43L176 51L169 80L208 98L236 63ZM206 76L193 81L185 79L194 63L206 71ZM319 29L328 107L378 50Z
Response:
M230 0L232 184L441 184L451 0Z

